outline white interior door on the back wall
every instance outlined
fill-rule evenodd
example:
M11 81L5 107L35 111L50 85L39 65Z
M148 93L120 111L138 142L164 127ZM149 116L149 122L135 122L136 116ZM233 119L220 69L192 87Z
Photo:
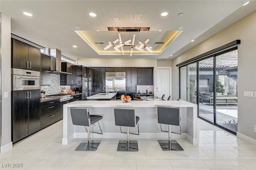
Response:
M157 96L162 97L162 95L165 94L164 100L167 100L168 97L172 95L171 68L157 68L156 74Z

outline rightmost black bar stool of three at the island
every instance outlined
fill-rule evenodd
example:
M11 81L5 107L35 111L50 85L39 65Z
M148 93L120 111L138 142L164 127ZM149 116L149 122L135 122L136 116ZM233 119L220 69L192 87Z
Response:
M161 131L168 132L168 140L158 140L162 150L183 150L176 140L171 140L171 125L180 126L180 108L158 106L157 107L157 118L160 123ZM162 130L161 124L168 124L168 131ZM181 126L180 133L181 134Z

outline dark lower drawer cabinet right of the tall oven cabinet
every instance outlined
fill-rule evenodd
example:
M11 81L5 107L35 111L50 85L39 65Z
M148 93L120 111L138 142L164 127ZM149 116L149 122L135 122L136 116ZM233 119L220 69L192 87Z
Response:
M60 99L41 102L41 129L60 119Z

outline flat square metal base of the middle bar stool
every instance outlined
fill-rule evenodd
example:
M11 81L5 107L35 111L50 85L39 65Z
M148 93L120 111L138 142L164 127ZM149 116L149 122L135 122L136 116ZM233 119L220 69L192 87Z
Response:
M124 152L138 152L138 141L137 140L119 140L117 151Z

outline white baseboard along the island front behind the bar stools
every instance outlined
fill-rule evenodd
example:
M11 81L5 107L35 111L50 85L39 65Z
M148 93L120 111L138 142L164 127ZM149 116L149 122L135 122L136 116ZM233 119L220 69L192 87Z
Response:
M186 139L186 133L182 133L181 135L179 134L172 134L172 138L183 138ZM75 132L74 133L74 138L87 138L87 133L84 132ZM121 134L121 133L103 133L101 134L92 134L91 133L91 138L126 138L126 134ZM168 138L168 133L140 133L140 135L134 135L130 134L130 138Z

